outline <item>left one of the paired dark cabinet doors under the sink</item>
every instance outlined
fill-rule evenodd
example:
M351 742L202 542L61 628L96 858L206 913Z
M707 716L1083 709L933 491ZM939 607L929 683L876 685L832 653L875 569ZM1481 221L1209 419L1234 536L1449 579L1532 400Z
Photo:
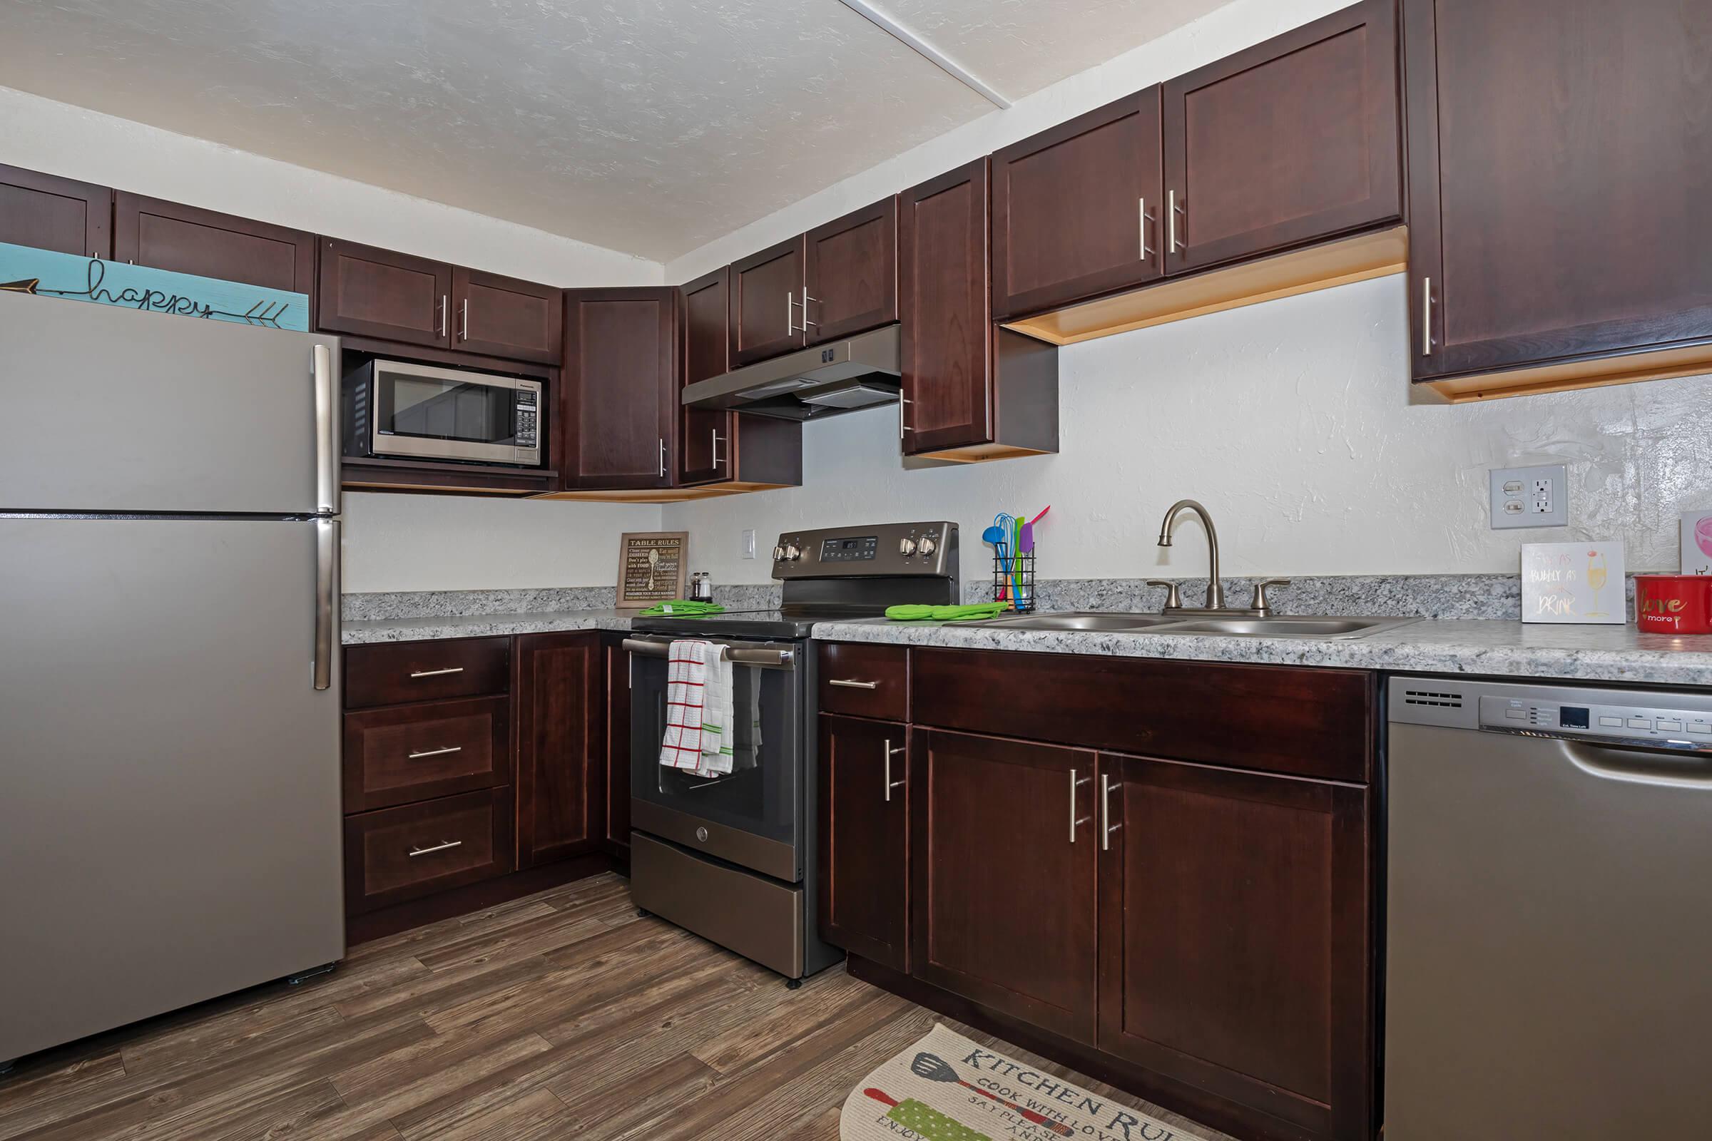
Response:
M916 729L912 973L1094 1042L1094 754Z

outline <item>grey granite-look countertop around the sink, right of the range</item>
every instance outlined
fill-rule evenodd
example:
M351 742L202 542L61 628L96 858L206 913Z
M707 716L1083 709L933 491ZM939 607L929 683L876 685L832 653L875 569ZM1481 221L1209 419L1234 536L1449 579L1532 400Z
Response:
M983 628L979 623L817 623L823 641L885 641L964 650L1099 653L1198 662L1344 665L1397 674L1486 674L1712 686L1712 635L1644 635L1633 626L1553 626L1503 619L1421 619L1349 638L1092 633Z

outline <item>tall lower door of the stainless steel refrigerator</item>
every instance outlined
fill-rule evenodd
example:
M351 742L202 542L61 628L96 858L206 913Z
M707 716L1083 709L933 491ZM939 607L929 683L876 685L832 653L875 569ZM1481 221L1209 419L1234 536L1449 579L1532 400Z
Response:
M0 1061L344 955L336 527L0 518Z

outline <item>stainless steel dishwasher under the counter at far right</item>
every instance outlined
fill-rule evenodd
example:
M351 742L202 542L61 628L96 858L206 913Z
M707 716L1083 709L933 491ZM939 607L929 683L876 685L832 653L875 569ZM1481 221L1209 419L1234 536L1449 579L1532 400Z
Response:
M1712 693L1388 708L1385 1139L1712 1138Z

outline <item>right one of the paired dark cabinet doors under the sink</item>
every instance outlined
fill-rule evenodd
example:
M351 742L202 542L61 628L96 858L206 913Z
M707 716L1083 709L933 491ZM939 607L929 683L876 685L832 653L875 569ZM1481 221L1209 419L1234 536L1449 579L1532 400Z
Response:
M1099 760L1099 1049L1371 1138L1366 790Z

